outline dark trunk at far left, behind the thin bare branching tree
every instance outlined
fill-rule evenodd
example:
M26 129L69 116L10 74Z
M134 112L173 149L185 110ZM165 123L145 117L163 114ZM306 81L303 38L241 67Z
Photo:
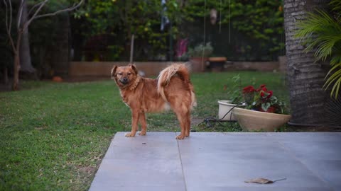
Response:
M23 13L21 18L21 27L23 28L23 24L26 23L28 20L27 15L27 1L23 1ZM17 47L18 48L18 47ZM24 73L27 73L29 75L32 75L36 72L36 69L33 68L32 62L31 62L31 54L30 54L30 42L28 39L28 28L23 31L23 35L21 37L20 42L20 71L23 71Z

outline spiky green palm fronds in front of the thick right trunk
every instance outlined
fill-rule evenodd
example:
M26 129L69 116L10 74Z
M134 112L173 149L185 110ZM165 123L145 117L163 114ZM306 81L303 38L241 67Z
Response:
M332 85L330 96L337 98L341 86L341 3L331 1L333 13L316 10L309 12L305 20L299 22L296 37L305 45L305 52L315 51L315 59L325 61L330 58L331 69L325 77L325 89Z

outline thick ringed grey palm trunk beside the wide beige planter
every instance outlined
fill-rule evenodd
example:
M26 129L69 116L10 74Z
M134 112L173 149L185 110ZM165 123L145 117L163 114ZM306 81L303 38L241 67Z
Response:
M291 103L291 123L305 125L325 124L325 108L328 93L323 84L328 68L322 62L315 62L314 51L303 52L301 42L293 35L296 23L306 16L306 11L323 8L325 0L285 0L284 28L286 31L287 75Z

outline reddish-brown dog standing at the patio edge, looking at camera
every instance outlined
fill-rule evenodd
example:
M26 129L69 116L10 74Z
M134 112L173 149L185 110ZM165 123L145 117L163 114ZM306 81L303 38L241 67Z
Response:
M162 112L171 108L180 122L181 133L176 139L190 135L190 110L196 105L190 74L184 64L172 64L160 72L158 79L139 76L134 64L114 66L112 79L119 86L121 98L131 108L131 132L134 137L141 125L140 135L146 135L146 112Z

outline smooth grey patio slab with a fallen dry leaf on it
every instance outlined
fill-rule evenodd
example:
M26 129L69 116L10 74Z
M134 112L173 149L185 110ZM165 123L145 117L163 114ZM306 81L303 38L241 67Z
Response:
M90 190L341 190L341 133L115 134ZM252 178L278 180L269 185Z

